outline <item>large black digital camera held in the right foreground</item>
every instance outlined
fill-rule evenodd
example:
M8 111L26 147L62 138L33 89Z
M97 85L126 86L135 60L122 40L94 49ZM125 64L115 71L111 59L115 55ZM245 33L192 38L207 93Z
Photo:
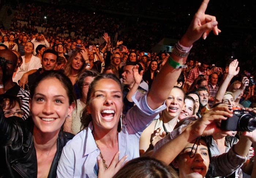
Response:
M235 110L233 116L221 121L222 130L248 131L256 129L255 113L246 110Z

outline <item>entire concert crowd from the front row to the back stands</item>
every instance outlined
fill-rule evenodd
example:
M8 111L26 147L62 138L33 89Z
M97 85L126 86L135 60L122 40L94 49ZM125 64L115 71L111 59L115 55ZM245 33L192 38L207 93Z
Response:
M208 3L170 53L128 46L140 33L113 18L19 7L31 26L0 31L0 177L255 178L255 66L197 58L223 33Z

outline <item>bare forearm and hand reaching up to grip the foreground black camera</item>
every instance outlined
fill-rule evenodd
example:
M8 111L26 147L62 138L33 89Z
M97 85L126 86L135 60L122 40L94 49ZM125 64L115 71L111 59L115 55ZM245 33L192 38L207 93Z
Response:
M182 151L182 149L191 141L202 135L212 135L213 133L225 132L230 134L231 132L222 131L217 122L218 120L226 120L227 117L231 117L232 111L226 104L220 104L206 114L202 118L199 118L193 124L188 125L185 130L176 138L168 141L162 147L157 149L153 157L163 161L166 164L170 164L174 158ZM167 135L168 136L168 135ZM179 145L177 147L177 145Z

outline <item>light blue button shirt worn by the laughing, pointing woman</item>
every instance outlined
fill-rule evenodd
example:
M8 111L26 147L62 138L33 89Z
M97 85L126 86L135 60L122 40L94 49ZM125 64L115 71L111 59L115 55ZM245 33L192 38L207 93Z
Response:
M146 95L136 92L132 96L136 106L128 110L123 119L123 127L118 133L119 160L127 155L127 160L139 157L139 138L141 133L159 112L166 108L165 103L158 109L152 110L146 101ZM59 178L95 178L98 173L97 148L93 134L92 122L89 126L79 132L63 148L57 168Z

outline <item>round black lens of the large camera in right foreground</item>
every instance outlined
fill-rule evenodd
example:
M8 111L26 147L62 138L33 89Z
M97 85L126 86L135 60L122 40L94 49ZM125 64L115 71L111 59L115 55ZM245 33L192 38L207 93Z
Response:
M241 131L252 132L256 129L256 119L251 114L244 114L240 117L238 126Z

